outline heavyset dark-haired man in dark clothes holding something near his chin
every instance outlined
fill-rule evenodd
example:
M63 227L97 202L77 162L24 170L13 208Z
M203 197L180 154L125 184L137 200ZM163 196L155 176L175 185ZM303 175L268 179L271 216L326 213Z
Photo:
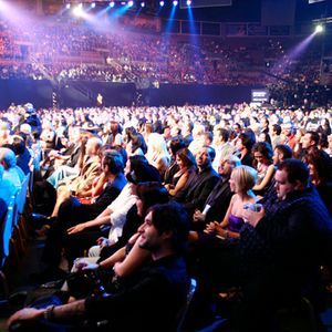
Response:
M260 211L245 210L238 271L243 290L241 331L270 331L280 305L320 299L320 269L331 260L332 224L309 183L308 167L286 159L274 175L276 194Z

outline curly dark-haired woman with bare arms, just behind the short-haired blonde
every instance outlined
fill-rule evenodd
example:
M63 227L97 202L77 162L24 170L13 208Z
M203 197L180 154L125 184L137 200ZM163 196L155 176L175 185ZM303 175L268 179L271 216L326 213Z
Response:
M272 156L273 152L271 145L267 142L256 143L252 147L253 167L257 169L257 184L252 190L257 195L263 196L267 188L273 178L276 172Z

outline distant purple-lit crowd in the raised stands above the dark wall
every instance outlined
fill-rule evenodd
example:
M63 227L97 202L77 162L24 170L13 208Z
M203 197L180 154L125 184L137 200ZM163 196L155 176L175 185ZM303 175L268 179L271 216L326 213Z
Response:
M297 37L194 39L107 27L63 19L31 21L29 27L2 21L0 77L225 85L320 82L318 41L294 55L301 41Z

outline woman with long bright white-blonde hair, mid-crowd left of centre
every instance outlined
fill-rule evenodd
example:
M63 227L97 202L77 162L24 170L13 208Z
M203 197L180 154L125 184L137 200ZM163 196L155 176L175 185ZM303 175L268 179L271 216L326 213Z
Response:
M170 163L170 155L163 135L157 133L149 134L145 156L148 163L155 166L162 178L164 178L165 170Z

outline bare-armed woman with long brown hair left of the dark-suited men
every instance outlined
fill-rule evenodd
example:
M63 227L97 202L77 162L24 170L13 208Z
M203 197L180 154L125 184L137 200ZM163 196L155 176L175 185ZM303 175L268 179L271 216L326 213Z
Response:
M174 174L172 184L165 185L170 196L175 196L197 169L196 159L187 147L176 153L176 164L178 165L178 170Z

